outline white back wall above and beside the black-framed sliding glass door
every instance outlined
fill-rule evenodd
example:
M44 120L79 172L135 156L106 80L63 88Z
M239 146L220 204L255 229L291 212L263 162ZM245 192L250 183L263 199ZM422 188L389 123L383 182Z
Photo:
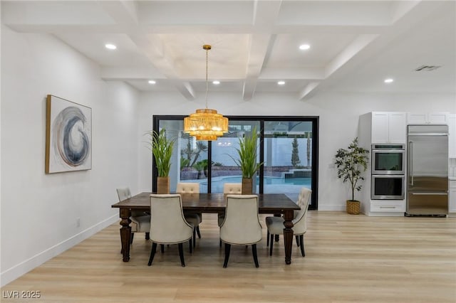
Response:
M299 101L296 95L259 94L243 101L239 94L209 92L209 108L222 115L278 115L320 117L318 209L343 211L349 188L337 179L332 167L337 149L347 147L358 135L358 117L371 111L455 112L455 95L390 95L382 92L360 94L321 92L317 97ZM164 106L165 105L165 106ZM152 115L189 115L204 108L204 93L195 101L175 93L142 93L140 95L140 129L152 128ZM140 190L150 191L151 160L140 150Z

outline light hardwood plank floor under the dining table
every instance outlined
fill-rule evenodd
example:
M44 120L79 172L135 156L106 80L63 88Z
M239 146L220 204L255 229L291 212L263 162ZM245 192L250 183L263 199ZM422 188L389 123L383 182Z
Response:
M202 239L180 266L177 245L147 267L150 243L135 235L130 262L120 255L120 225L2 287L1 302L456 302L456 218L353 216L310 211L306 257L294 244L285 265L283 238L269 257L266 224L258 245L232 248L227 268L217 215L204 214ZM6 299L39 291L40 299Z

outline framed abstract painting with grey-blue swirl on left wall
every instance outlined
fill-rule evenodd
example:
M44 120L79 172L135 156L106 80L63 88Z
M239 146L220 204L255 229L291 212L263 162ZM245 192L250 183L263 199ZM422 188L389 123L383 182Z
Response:
M48 95L46 174L92 168L92 109Z

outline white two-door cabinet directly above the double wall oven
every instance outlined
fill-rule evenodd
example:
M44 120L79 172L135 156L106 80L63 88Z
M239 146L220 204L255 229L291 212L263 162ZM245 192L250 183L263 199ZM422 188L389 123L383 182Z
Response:
M405 112L372 112L371 143L404 143L407 140Z

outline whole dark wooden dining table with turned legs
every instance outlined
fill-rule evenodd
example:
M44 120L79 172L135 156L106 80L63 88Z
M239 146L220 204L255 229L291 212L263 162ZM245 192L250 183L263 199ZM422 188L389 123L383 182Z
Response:
M130 260L130 216L131 211L150 211L150 194L138 193L135 196L113 204L119 208L120 241L122 243L123 262ZM225 193L180 193L183 211L195 213L224 213L227 206ZM294 211L299 206L286 196L285 193L259 193L259 213L271 213L284 218L285 263L291 264L291 248L293 247L293 218Z

